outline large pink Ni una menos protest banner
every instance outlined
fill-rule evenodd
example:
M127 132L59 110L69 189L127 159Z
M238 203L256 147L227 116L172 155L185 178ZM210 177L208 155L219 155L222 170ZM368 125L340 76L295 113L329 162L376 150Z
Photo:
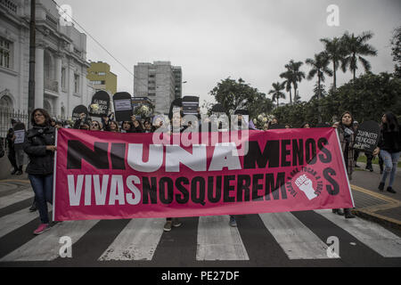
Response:
M211 142L213 134L200 135ZM184 147L153 143L153 134L60 129L53 218L217 216L354 207L335 129L250 131L241 142L245 141L249 148L241 154L235 142L205 144L200 138L199 144Z

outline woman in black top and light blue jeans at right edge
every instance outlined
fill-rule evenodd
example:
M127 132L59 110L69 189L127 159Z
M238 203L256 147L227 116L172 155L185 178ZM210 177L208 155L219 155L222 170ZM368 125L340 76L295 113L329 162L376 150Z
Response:
M381 183L379 184L379 190L384 190L384 184L389 175L387 191L395 194L397 192L393 189L393 183L397 172L398 159L401 154L401 132L397 117L393 113L388 112L384 114L381 118L381 122L381 139L375 153L380 151L380 156L384 161L385 168L381 177Z

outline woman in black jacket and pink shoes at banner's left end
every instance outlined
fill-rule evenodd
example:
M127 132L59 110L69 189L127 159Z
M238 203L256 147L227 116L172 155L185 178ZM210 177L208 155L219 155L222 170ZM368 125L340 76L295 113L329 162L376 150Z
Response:
M50 228L47 202L53 203L53 165L56 147L55 129L46 110L36 109L30 116L32 128L25 138L24 151L29 155L26 172L35 191L37 208L41 224L34 234L40 234Z

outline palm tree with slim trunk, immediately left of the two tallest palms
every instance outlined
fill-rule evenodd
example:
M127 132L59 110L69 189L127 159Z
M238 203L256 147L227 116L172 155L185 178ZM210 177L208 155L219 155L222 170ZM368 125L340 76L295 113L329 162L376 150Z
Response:
M315 54L315 59L307 59L307 64L309 64L312 69L310 69L309 74L307 75L307 80L312 80L317 75L317 99L319 100L319 108L318 108L318 120L319 123L322 122L322 108L320 106L320 99L322 98L322 82L324 82L324 74L328 76L332 76L331 69L328 68L329 65L329 57L326 53L318 53Z

